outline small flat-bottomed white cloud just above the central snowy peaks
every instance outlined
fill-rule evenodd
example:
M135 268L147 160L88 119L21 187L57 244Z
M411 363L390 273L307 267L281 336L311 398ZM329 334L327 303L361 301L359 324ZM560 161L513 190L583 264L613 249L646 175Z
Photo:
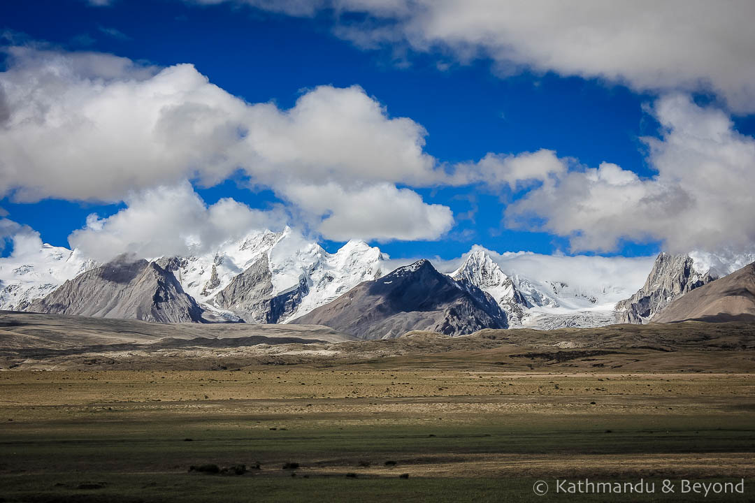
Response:
M409 189L390 184L344 189L335 183L290 186L286 196L305 211L325 215L317 231L333 241L435 240L454 223L451 210L426 204Z

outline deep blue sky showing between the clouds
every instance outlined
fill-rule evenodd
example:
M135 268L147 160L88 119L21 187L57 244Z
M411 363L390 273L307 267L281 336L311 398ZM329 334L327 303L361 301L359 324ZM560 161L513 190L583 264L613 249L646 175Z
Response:
M691 100L688 109L697 107L695 110L702 110L710 117L716 113L725 115L731 121L729 133L744 136L744 140L738 136L742 142L750 141L755 133L755 119L750 110L732 105L734 100L726 92L705 85L690 87L680 82L676 86L664 82L655 88L655 84L636 83L638 78L633 69L627 69L626 75L620 72L618 77L604 78L590 75L590 72L601 74L602 70L549 69L536 60L532 63L516 60L516 69L504 73L498 67L501 57L485 54L490 48L467 58L457 54L451 44L444 47L442 43L426 48L377 40L363 47L365 44L350 40L353 37L336 29L337 25L358 28L350 16L360 22L374 19L375 23L383 23L379 11L346 12L338 17L330 8L304 15L283 10L270 12L244 2L197 5L174 0L116 1L102 6L80 0L3 2L0 30L6 32L6 46L27 46L61 54L79 51L114 54L159 68L191 63L199 74L228 94L250 104L273 102L281 110L291 109L297 99L318 86L358 85L368 97L385 107L387 117L410 118L424 127L427 131L424 153L446 167L474 163L488 152L518 155L548 149L569 164L570 172L595 170L607 162L636 173L639 180L652 179L658 174L654 163L663 162L667 166L673 160L667 159L670 155L649 159L648 143L642 139L651 136L673 143L669 138L681 126L671 122L664 133L659 122L664 118L659 115L661 112L652 112L652 107L656 100L678 90ZM10 69L13 64L6 56L3 69ZM700 77L704 81L705 75ZM697 147L690 147L689 155L694 155L694 148ZM113 155L119 154L113 152ZM677 158L684 158L684 154ZM11 162L19 161L5 161ZM749 160L741 162L746 164ZM0 167L2 164L0 157ZM208 187L195 179L193 186L208 205L221 198L233 198L259 210L291 205L279 187L271 189L262 184L250 188L250 177L243 170L225 178ZM559 180L559 187L566 185L564 180ZM657 253L668 243L679 247L707 244L704 240L687 243L668 230L673 225L658 228L649 225L647 231L629 226L627 232L618 232L612 238L613 244L606 246L598 236L578 247L573 246L574 239L584 232L581 227L584 222L561 222L544 229L526 225L511 228L504 211L519 199L528 198L529 188L540 186L544 183L541 179L524 184L525 189L484 182L455 186L396 179L391 183L418 194L424 204L448 207L454 217L451 228L439 236L369 240L395 257L451 259L469 250L472 244L499 252L532 250L624 256ZM43 241L58 246L69 246L69 235L85 226L89 214L97 213L100 219L106 219L128 207L128 203L118 198L97 201L96 195L62 198L53 193L40 195L39 201L20 202L15 192L18 186L23 183L16 182L15 186L9 183L0 207L8 212L8 219L29 225L40 233ZM684 194L694 194L692 189L683 184L682 187ZM544 204L542 201L550 201L553 206L550 213L538 213L538 221L556 221L559 214L556 203L571 194L538 195L540 202L533 200L535 206ZM584 199L580 201L584 203ZM299 223L295 214L288 222L294 226ZM625 222L621 219L615 225L600 224L611 228ZM317 222L307 222L306 226L318 234ZM744 241L742 246L750 243L751 228L727 232L744 232L747 236L739 241ZM330 237L320 233L322 244L333 251L342 241ZM726 239L710 246L726 244ZM739 241L737 244L741 244Z

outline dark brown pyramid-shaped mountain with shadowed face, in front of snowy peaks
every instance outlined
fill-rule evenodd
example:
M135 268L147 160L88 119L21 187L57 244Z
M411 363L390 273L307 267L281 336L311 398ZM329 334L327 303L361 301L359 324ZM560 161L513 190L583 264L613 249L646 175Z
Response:
M365 281L293 321L318 324L360 339L432 330L449 336L507 326L506 314L479 288L454 281L419 260Z

